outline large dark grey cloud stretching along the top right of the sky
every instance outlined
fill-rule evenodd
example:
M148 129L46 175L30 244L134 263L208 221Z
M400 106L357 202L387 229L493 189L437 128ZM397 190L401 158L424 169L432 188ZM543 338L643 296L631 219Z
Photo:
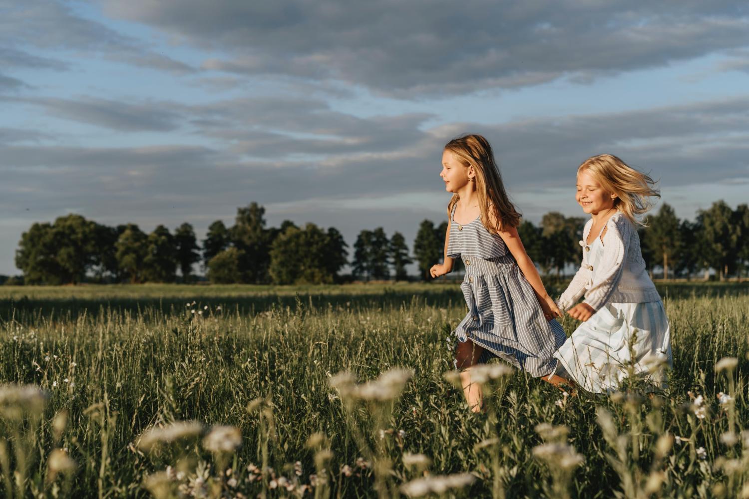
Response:
M749 46L742 1L105 1L110 16L226 55L203 67L338 79L395 97L662 67Z

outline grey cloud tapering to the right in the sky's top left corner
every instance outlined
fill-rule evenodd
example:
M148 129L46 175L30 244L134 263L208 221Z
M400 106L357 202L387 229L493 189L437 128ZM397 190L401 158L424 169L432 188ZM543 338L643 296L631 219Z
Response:
M0 61L12 59L25 67L64 69L64 63L31 55L17 46L35 49L85 51L113 61L172 73L192 73L195 68L148 49L140 40L73 13L55 0L0 0Z

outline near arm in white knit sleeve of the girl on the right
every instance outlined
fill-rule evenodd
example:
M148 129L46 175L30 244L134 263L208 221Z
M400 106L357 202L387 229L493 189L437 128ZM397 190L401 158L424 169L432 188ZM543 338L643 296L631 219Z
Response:
M613 223L607 223L604 234L604 254L598 264L601 268L596 270L595 280L583 301L593 310L598 310L607 304L609 297L616 290L627 261L627 248L629 248L633 230L634 227L624 215L617 217Z

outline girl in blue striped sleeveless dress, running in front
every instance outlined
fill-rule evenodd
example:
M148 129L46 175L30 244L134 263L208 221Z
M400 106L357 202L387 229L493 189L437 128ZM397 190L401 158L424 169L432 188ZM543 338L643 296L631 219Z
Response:
M455 138L445 146L442 165L440 177L453 194L444 263L429 272L433 278L451 272L458 257L466 269L461 289L468 313L455 329L455 365L468 405L482 408L471 367L493 357L559 385L565 380L553 375L552 355L566 340L553 320L561 313L518 236L521 215L507 197L491 146L481 135Z

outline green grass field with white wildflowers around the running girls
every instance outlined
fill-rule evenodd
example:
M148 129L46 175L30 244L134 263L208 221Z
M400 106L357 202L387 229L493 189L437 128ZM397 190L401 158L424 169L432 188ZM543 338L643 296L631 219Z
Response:
M496 373L470 414L457 284L3 287L0 495L749 497L749 286L661 293L667 391Z

